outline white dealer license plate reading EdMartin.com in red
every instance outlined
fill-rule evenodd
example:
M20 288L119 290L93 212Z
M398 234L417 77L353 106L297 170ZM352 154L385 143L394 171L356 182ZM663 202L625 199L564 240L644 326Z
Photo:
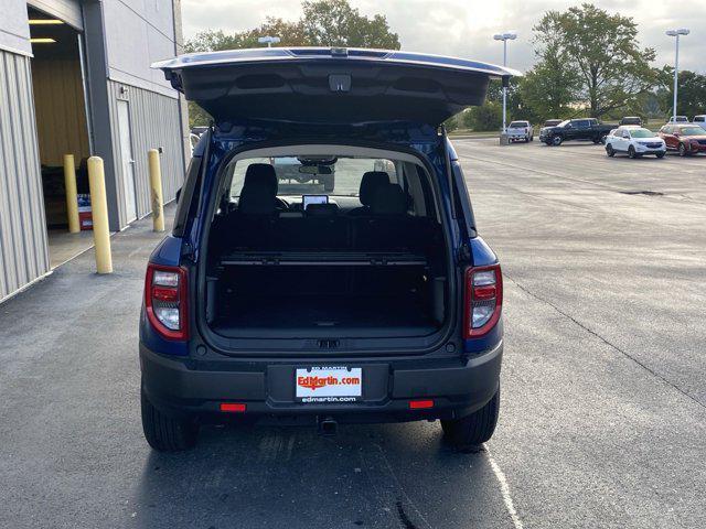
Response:
M309 367L295 374L295 397L299 402L355 402L363 398L360 367Z

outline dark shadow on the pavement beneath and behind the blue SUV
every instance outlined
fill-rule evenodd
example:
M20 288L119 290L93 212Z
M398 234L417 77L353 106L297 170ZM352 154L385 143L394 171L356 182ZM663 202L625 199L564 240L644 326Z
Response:
M150 453L133 504L143 528L510 526L486 454L454 452L438 422L207 427L193 451Z

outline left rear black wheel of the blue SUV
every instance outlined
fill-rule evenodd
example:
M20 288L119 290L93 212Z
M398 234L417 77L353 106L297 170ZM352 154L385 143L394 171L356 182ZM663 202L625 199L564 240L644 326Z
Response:
M196 444L199 425L188 419L174 419L161 413L140 390L142 431L149 445L159 452L179 452Z

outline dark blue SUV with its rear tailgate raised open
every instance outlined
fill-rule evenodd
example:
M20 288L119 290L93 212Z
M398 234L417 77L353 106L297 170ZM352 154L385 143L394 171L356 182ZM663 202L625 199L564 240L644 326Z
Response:
M490 439L502 276L441 123L515 73L350 48L156 67L214 123L147 270L149 444L183 450L227 420L440 419L456 445Z

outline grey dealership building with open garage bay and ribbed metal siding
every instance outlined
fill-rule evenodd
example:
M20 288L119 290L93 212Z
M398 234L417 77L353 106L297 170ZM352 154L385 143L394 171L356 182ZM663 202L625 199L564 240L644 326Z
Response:
M186 107L150 64L181 53L180 10L180 0L0 0L0 301L50 272L52 240L66 239L64 154L79 193L86 159L103 158L114 231L151 210L149 149L161 151L164 201L174 198Z

